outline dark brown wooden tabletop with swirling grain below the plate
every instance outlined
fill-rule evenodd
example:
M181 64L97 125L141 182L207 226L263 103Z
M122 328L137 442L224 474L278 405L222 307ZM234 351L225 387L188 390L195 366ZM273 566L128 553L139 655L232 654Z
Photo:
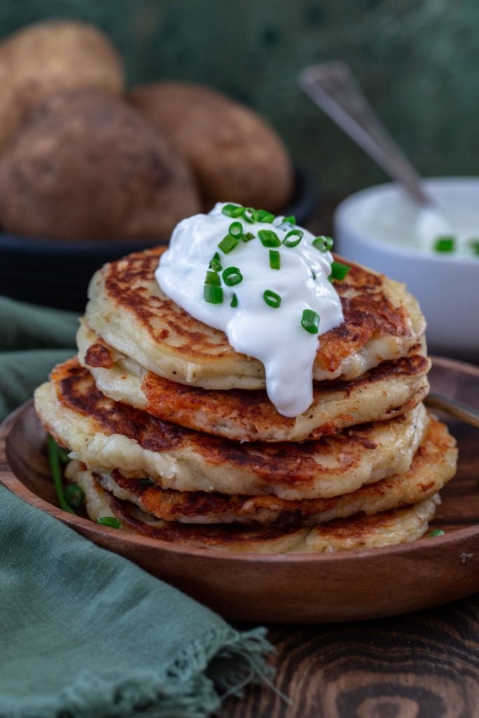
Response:
M313 231L331 232L336 203ZM269 640L291 704L248 686L219 718L479 718L479 594L380 620L270 626Z

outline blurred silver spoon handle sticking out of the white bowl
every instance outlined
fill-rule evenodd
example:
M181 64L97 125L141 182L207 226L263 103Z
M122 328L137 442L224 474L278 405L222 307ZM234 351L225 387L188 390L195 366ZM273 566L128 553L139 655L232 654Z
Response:
M306 67L298 81L312 101L361 146L389 177L400 182L419 205L434 205L422 189L419 174L384 128L345 62L323 62Z

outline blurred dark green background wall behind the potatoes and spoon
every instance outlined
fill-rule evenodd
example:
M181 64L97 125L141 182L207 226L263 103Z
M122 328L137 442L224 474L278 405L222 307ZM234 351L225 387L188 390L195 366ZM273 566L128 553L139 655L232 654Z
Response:
M96 23L129 83L208 83L264 114L332 195L383 174L297 87L347 60L419 172L479 170L477 0L5 0L0 34L45 18Z

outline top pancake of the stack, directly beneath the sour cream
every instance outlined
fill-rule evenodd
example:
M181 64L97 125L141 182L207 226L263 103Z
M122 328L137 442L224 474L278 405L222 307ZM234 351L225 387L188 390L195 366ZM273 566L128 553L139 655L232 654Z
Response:
M88 325L141 367L172 381L208 389L265 387L264 367L236 353L218 330L172 302L154 279L164 248L106 264L88 290ZM360 376L406 355L424 334L424 317L404 285L348 262L335 288L345 321L320 337L317 381Z

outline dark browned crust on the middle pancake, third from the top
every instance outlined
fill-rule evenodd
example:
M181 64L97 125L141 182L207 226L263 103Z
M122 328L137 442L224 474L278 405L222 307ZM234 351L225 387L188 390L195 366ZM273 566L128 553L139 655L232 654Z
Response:
M88 416L98 432L108 436L123 434L154 452L171 452L187 444L190 452L195 452L210 466L246 469L271 484L307 486L315 482L318 472L329 476L344 475L346 470L353 472L361 454L354 449L362 446L373 451L377 444L371 437L375 426L381 423L355 426L311 442L239 444L231 439L185 429L146 411L113 401L98 391L92 376L76 358L55 367L51 378L59 401ZM401 421L401 418L394 421Z

